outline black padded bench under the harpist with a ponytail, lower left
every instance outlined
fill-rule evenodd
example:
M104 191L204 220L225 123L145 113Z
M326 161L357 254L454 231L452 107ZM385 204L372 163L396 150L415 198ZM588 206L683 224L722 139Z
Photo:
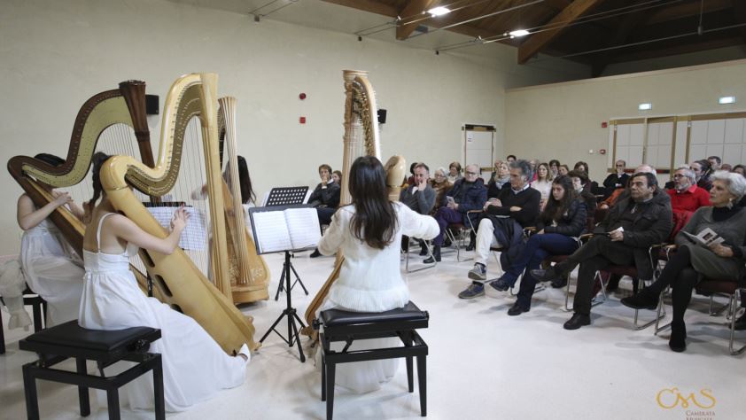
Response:
M19 348L39 355L39 360L23 365L23 385L26 392L26 412L29 419L39 418L36 379L78 385L81 416L89 416L89 388L106 391L109 418L120 418L119 388L152 370L155 396L155 417L166 418L163 400L163 368L160 354L147 353L152 341L160 338L160 330L135 327L119 331L86 330L77 321L70 321L36 332L19 341ZM52 366L74 358L77 371L53 369ZM89 375L86 361L97 362L101 376ZM119 375L104 376L104 368L119 361L137 364Z

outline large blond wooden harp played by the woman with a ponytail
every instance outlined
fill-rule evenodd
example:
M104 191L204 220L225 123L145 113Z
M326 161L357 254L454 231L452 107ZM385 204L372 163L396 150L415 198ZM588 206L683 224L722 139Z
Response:
M101 183L113 206L141 229L166 237L163 229L137 199L135 192L161 197L171 191L179 176L184 135L197 119L206 166L206 190L212 217L210 253L214 284L177 248L171 255L141 250L144 266L162 293L162 300L190 315L228 354L246 343L255 349L252 323L230 299L229 264L218 144L216 74L187 74L169 89L158 159L153 167L129 156L114 156L101 169Z

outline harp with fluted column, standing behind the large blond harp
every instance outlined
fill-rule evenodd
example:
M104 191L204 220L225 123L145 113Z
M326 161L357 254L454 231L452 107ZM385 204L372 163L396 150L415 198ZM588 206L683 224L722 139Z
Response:
M225 204L230 289L235 303L266 300L269 299L269 268L256 253L256 246L246 229L241 199L237 170L236 98L221 97L218 104L218 132L227 175L225 182L221 183L221 191Z

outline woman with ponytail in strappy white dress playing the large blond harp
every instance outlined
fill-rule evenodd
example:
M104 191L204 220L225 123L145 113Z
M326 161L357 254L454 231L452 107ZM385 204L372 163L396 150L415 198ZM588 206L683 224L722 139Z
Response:
M241 347L237 356L222 351L192 318L157 299L148 298L129 270L137 247L156 253L173 253L189 219L183 207L175 211L167 237L155 237L116 209L103 191L99 172L109 156L93 158L93 198L90 223L83 237L85 277L78 323L91 330L121 330L148 326L162 337L151 351L163 354L166 409L181 411L214 396L221 389L244 383L250 354ZM97 203L98 198L101 202ZM150 389L150 391L148 391ZM120 389L130 408L152 408L152 378L144 376Z

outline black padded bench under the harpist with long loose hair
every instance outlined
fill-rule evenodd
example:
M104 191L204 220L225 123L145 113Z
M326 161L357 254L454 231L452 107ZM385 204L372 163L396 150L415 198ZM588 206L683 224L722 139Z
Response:
M420 391L420 411L427 415L426 364L427 344L416 329L427 328L430 315L412 302L386 312L347 312L338 309L322 311L314 320L314 328L323 327L319 334L322 345L322 401L326 401L326 418L334 411L334 376L338 363L363 362L381 359L407 358L409 392L415 391L412 358L417 358L417 382ZM349 351L356 339L399 337L404 346ZM344 341L341 352L331 350L331 343Z

